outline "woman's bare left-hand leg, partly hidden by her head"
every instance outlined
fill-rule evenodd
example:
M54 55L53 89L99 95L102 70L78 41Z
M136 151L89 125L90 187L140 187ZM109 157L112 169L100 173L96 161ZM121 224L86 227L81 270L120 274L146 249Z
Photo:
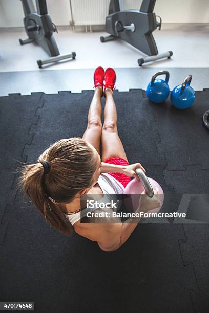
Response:
M88 124L82 138L91 143L97 152L100 154L100 141L101 141L101 95L102 89L97 87L89 108Z

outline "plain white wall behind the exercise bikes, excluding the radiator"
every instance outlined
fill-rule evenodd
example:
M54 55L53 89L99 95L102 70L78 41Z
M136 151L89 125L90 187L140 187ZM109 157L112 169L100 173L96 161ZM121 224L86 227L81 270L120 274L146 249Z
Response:
M89 9L91 0L88 2ZM47 0L47 4L56 25L69 25L71 19L69 0ZM141 0L124 0L125 8L130 6L139 8L140 4ZM155 13L162 17L163 23L209 23L209 1L157 0ZM0 0L0 27L21 27L23 16L20 0Z

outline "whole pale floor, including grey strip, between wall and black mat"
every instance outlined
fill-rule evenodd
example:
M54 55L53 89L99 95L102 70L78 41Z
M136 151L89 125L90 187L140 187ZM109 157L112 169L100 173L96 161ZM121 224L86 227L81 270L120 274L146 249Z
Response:
M172 50L173 57L139 68L137 59L143 55L129 44L120 40L101 43L99 37L104 32L72 32L69 27L58 27L59 33L55 33L55 38L60 53L75 51L76 60L61 61L42 70L39 70L36 60L47 58L43 49L34 43L25 46L19 44L18 39L26 37L25 30L2 29L0 96L9 93L27 95L40 91L57 93L65 90L91 90L93 72L99 65L116 69L116 86L119 91L145 88L155 71L165 69L171 74L171 88L179 84L185 76L192 74L194 89L202 90L209 87L208 29L207 24L162 25L161 31L154 32L158 50Z

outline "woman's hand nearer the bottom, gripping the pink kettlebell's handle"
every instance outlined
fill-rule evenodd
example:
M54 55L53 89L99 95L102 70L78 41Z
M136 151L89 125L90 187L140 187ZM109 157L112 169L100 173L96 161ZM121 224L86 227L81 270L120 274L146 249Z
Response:
M148 197L145 191L141 193L140 199L139 199L139 212L147 213L150 210L153 210L155 208L159 208L161 205L160 199L159 199L159 193L158 189L154 191L154 195L152 198Z

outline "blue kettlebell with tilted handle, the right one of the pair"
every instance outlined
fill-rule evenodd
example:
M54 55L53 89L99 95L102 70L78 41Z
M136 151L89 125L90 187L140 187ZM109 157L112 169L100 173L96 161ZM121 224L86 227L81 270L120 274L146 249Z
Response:
M192 75L188 75L182 85L176 86L171 93L171 103L178 109L190 107L195 100L195 91L190 86Z

